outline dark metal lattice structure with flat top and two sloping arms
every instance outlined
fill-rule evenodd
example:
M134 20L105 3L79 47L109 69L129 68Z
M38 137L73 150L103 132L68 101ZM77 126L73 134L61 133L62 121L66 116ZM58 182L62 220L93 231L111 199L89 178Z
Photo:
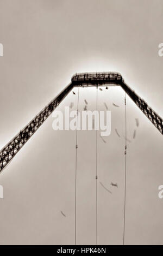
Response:
M69 84L57 97L55 97L37 116L24 127L2 150L0 151L0 172L14 158L18 151L36 132L41 124L52 114L53 110L61 103L73 87L87 86L121 86L128 96L135 102L140 110L148 117L154 126L163 135L163 120L141 99L131 88L125 84L120 73L84 73L76 74Z

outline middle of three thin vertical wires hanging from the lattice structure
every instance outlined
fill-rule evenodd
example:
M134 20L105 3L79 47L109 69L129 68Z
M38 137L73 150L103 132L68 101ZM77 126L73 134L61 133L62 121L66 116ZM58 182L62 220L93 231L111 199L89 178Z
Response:
M97 93L96 93L96 111L98 111L98 103L97 103L97 99L98 99L98 85L97 85ZM97 168L97 156L98 156L98 151L97 151L97 147L98 147L98 139L97 139L97 127L98 127L98 118L96 118L96 245L98 245L98 168Z

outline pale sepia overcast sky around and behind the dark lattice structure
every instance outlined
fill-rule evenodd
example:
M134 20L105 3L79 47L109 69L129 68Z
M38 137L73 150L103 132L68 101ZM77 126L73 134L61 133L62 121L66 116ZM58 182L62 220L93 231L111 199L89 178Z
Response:
M163 3L160 0L0 0L2 148L80 72L120 72L162 117ZM57 110L74 103L68 94ZM96 108L96 88L81 88L79 110ZM111 111L111 135L98 133L98 243L123 243L124 92L98 90ZM120 106L115 108L112 103ZM135 118L140 126L135 127ZM0 175L0 244L74 243L75 131L43 123ZM115 133L115 129L121 138ZM133 132L136 129L136 138ZM125 243L162 245L162 135L127 97ZM78 133L77 243L96 242L96 132ZM101 186L112 190L108 194ZM118 189L110 186L118 183ZM62 216L64 212L66 217Z

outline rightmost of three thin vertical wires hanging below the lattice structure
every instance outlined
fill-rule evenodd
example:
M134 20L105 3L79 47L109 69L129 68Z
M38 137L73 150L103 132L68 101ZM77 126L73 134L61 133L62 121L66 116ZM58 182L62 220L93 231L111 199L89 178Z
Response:
M124 97L125 104L125 176L124 176L124 222L123 222L123 245L125 240L125 224L126 224L126 163L127 163L127 113L126 113L126 92Z

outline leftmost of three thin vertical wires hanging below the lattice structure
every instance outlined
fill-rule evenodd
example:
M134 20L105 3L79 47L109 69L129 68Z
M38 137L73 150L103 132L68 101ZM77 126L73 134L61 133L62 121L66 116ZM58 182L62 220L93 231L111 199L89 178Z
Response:
M75 216L74 216L74 238L77 245L77 149L78 149L78 113L79 113L79 87L78 87L78 104L77 104L77 129L76 129L76 172L75 172Z

